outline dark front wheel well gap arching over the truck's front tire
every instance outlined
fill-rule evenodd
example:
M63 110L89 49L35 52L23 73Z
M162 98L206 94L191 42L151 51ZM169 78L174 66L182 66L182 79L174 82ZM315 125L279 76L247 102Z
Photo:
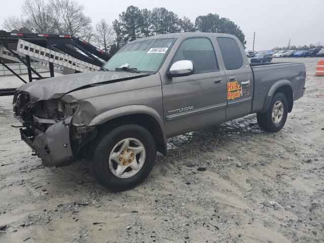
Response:
M167 154L166 143L163 132L156 119L148 114L131 114L113 118L98 126L98 134L107 127L117 127L124 124L137 124L146 128L152 135L156 143L156 150L164 155Z

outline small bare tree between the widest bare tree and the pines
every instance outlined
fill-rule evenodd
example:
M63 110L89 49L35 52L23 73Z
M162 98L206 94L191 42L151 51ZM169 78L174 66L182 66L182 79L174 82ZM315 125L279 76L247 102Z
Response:
M96 39L99 48L108 53L111 45L115 41L115 33L112 27L104 19L101 19L96 24Z

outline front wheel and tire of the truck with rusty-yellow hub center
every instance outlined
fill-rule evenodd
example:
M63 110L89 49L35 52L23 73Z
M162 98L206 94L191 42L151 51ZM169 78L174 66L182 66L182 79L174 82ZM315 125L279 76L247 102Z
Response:
M144 150L137 153L134 149L137 148L140 151L140 147ZM124 155L121 155L122 153ZM127 157L121 159L121 156ZM107 131L98 139L94 146L91 169L96 179L105 188L111 191L123 191L137 186L149 175L154 166L155 157L156 148L152 134L142 126L127 124ZM137 165L137 170L132 169L132 165L135 166L134 163ZM118 167L123 169L118 171ZM124 172L118 176L120 171Z

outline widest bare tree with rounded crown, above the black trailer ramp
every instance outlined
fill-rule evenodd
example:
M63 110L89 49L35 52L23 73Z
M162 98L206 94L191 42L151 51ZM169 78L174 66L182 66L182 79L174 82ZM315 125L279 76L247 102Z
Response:
M59 33L88 39L92 35L91 18L83 13L83 5L75 0L50 0L47 8Z

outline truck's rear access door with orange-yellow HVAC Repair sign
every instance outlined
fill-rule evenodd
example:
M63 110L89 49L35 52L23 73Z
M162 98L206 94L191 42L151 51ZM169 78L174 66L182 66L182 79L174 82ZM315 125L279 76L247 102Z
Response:
M249 114L252 110L253 74L247 58L243 59L237 41L217 37L227 80L226 120Z

